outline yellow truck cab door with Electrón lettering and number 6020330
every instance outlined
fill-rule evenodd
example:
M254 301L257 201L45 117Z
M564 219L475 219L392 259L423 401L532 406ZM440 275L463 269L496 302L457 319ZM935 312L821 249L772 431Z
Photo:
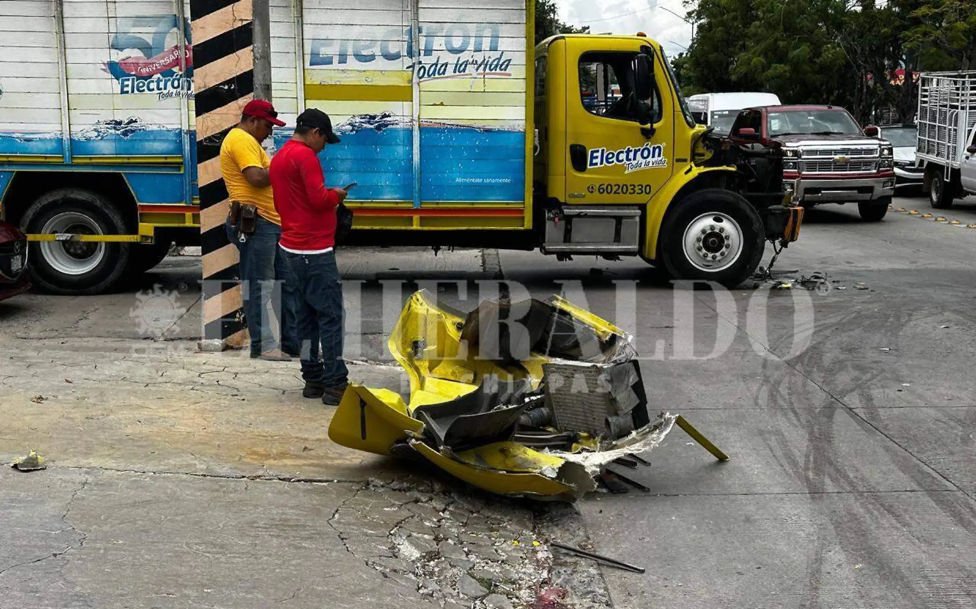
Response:
M594 52L582 43L567 45L567 202L644 204L671 179L673 167L674 108L666 68L660 57L653 58L650 98L638 100L634 83L640 49L632 41L626 43L630 49L623 41L604 44L621 48ZM651 125L643 132L642 112Z

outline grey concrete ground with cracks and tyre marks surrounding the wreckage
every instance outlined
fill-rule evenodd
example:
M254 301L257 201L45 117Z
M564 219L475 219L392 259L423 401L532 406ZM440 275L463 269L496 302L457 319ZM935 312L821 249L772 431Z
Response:
M813 210L777 264L846 290L735 290L731 312L639 261L341 253L359 290L353 379L403 390L384 364L386 314L422 286L468 309L501 273L513 295L566 290L632 330L652 406L731 456L716 464L675 430L652 467L625 470L649 493L573 507L331 444L332 410L301 398L294 364L183 340L198 261L170 259L129 293L0 303L0 463L31 447L51 459L0 468L0 606L976 607L976 230L861 223L849 207ZM976 223L976 207L947 216ZM170 325L146 340L130 312L156 283L179 306L152 308L150 330Z

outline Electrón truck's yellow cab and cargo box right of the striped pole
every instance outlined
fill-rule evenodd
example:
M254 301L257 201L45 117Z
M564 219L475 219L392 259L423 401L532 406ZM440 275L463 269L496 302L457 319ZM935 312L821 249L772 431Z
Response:
M295 8L271 5L274 103L339 125L322 163L329 183L358 183L352 242L640 256L734 284L791 215L795 235L762 170L776 159L708 138L647 36L533 47L531 0Z

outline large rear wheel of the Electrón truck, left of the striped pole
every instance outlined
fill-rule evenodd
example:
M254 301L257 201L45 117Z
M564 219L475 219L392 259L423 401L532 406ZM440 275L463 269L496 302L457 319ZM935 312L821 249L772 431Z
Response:
M23 215L31 234L126 234L122 215L102 195L81 188L58 188L41 195ZM65 295L100 294L122 277L132 245L92 241L39 241L30 244L33 283Z

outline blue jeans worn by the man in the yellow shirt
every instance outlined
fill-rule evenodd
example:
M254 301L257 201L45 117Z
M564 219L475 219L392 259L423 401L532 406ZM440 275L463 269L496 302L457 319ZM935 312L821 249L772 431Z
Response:
M226 224L227 238L240 252L241 289L244 297L244 317L251 335L251 354L260 355L277 347L267 318L267 304L281 323L281 349L298 352L295 336L295 312L291 302L293 282L288 281L288 264L278 247L281 226L258 217L254 233L246 235L244 243L238 239L237 229Z

